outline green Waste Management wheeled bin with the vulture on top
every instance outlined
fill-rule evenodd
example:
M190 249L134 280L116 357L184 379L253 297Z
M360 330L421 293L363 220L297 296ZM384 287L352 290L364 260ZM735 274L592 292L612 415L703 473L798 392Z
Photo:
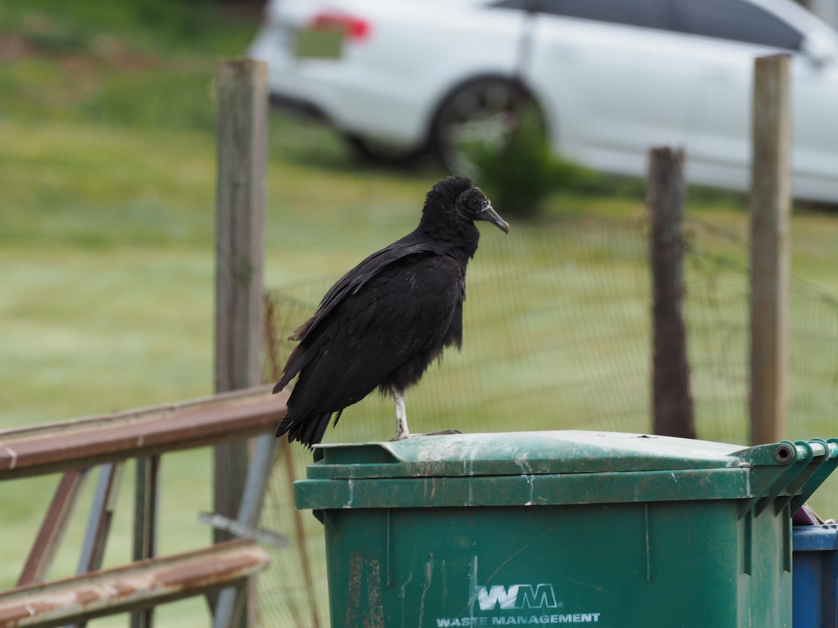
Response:
M322 445L294 485L339 626L791 626L791 514L838 440L587 431Z

